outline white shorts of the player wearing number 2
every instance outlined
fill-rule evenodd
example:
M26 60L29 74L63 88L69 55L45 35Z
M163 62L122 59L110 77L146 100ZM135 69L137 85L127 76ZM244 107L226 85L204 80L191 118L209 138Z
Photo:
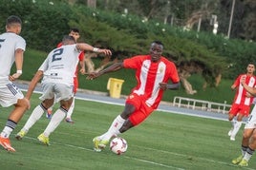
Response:
M47 83L42 84L42 87L43 95L39 98L42 101L53 98L56 102L68 101L73 97L73 85Z

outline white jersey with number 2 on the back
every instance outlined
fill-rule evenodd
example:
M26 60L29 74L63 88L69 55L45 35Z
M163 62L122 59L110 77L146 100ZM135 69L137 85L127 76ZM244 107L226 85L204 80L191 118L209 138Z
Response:
M74 85L75 69L80 51L76 45L53 49L38 70L44 72L42 83Z

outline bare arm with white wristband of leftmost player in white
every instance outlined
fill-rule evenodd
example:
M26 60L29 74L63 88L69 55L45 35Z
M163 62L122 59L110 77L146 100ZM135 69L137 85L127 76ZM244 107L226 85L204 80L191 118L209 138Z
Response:
M22 66L23 66L23 53L24 50L18 48L15 50L15 65L16 65L16 72L9 76L10 81L15 81L18 79L22 74Z

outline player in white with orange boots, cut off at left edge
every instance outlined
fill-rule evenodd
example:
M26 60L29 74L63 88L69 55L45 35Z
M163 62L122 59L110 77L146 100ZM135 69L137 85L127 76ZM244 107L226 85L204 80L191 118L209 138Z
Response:
M0 104L3 107L14 105L0 134L0 144L11 152L15 152L9 139L11 132L30 107L29 100L12 84L12 81L17 80L22 74L23 53L26 49L26 41L19 36L21 27L21 19L11 15L6 22L6 32L0 35ZM10 75L14 62L17 71Z

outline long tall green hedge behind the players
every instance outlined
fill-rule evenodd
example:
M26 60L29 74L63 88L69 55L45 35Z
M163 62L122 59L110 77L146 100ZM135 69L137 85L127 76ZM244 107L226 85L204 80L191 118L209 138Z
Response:
M71 6L57 0L2 0L0 10L1 32L5 31L6 18L18 15L24 23L22 36L28 47L42 51L53 49L69 28L77 27L81 29L81 41L111 48L113 57L119 59L147 53L150 42L160 39L165 45L164 55L178 66L183 62L202 63L206 80L212 80L220 70L225 78L233 78L245 71L248 62L256 63L254 42L226 40L211 32L184 31L158 21L142 22L134 15Z

